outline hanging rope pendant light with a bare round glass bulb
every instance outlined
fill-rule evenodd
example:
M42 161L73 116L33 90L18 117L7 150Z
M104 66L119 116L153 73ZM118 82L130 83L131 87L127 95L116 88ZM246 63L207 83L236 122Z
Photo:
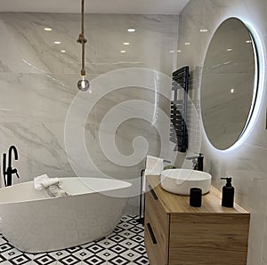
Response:
M87 40L85 39L85 0L81 0L81 33L77 39L77 43L82 44L82 69L81 76L82 79L78 81L77 88L80 91L87 91L90 87L89 81L85 78L85 43Z

